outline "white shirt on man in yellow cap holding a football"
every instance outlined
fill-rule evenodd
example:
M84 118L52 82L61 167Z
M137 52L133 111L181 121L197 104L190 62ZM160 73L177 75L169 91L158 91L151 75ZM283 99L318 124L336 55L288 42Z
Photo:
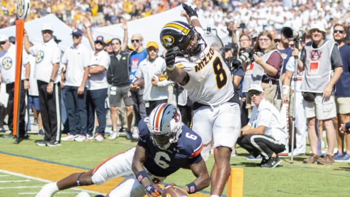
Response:
M152 77L155 74L163 74L165 70L165 60L161 57L157 57L153 61L149 61L149 58L146 58L140 62L139 68L135 73L135 77L144 79L145 85L142 96L143 100L158 101L168 99L168 85L174 82L168 80L159 81L158 86L153 86L151 83Z

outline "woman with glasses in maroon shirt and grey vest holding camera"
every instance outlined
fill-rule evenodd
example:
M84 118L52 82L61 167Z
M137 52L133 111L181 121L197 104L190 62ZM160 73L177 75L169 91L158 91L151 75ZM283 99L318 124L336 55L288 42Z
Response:
M280 70L283 58L268 31L262 31L257 40L253 49L253 63L249 64L247 61L243 63L245 71L243 92L246 92L252 84L261 84L264 98L280 110ZM246 108L249 109L252 106L247 97Z

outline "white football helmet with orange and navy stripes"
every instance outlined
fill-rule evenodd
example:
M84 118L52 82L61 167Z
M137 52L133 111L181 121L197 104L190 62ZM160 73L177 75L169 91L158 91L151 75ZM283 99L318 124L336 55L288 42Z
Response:
M149 115L147 127L153 144L167 149L171 143L177 142L182 132L180 111L172 104L160 104Z

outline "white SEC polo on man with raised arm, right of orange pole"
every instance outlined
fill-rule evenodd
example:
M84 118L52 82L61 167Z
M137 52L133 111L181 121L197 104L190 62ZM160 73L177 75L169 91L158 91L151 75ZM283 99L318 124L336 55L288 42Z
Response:
M60 62L61 51L57 43L51 39L48 42L36 44L29 48L29 53L35 56L34 77L37 80L49 83L53 64ZM54 78L54 83L61 80L60 69Z

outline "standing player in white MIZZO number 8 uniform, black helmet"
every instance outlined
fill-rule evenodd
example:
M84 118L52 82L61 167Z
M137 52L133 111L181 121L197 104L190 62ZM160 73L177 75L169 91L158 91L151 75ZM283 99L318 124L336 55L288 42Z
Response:
M192 130L203 140L205 160L213 140L215 163L210 193L211 197L219 197L229 176L231 147L241 127L240 107L235 101L230 70L221 54L204 41L196 9L182 5L191 25L182 21L167 23L160 32L160 41L168 50L165 61L169 79L183 86L194 102Z

